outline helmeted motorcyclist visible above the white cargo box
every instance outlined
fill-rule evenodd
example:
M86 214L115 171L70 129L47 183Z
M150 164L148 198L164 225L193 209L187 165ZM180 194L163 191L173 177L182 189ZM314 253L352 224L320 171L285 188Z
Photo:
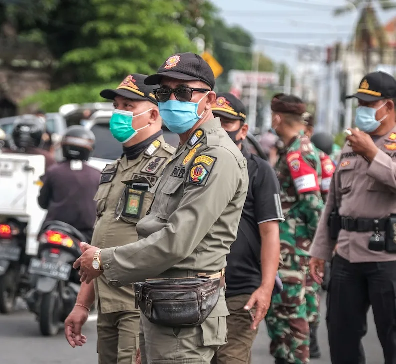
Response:
M3 153L40 154L45 157L45 170L56 161L51 153L43 148L43 135L46 135L45 122L35 115L22 115L15 120L12 139L16 146L2 148Z

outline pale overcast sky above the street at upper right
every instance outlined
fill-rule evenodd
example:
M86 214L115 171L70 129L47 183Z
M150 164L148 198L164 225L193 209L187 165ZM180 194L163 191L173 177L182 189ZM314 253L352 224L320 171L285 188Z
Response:
M346 41L354 28L356 11L333 16L345 0L212 0L228 24L238 24L256 39L259 50L276 61L295 64L295 44L331 45ZM378 9L382 22L396 11Z

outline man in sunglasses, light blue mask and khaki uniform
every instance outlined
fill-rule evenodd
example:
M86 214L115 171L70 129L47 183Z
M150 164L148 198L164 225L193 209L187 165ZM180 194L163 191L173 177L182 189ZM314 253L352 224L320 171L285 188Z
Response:
M155 185L150 213L137 224L137 243L123 247L84 247L76 261L82 280L100 275L97 261L110 285L148 278L220 276L226 255L236 239L248 188L247 161L214 118L211 105L214 76L197 54L169 57L147 84L155 90L167 128L179 134L180 145ZM196 327L165 327L140 321L141 363L209 364L226 343L224 288L217 304ZM73 332L80 340L80 332Z

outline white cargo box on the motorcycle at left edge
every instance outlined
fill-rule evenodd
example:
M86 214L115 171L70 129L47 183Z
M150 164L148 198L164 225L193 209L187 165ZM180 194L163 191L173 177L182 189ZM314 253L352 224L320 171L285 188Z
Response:
M36 254L37 234L46 215L37 202L40 176L44 173L43 155L0 153L0 217L15 217L28 223L29 255Z

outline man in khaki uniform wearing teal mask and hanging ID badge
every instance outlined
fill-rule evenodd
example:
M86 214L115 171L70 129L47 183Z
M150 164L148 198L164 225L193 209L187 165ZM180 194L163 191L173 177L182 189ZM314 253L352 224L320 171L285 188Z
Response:
M137 241L136 223L145 216L153 198L146 190L155 184L175 150L163 139L153 87L144 84L145 78L145 75L131 74L116 90L101 92L102 97L114 100L110 130L123 142L124 154L104 168L94 198L97 220L92 245L98 248ZM122 116L121 122L116 119L118 115ZM125 141L130 135L134 136ZM140 312L134 307L131 286L108 286L104 276L89 284L82 283L77 304L66 320L66 332L70 325L85 323L95 296L98 298L99 364L134 363Z

